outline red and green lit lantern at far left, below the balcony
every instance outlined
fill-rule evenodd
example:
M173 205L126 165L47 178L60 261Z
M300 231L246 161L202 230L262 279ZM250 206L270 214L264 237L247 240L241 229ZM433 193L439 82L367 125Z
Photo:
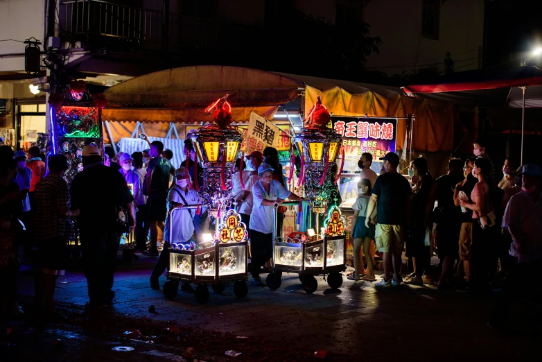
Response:
M71 182L82 171L82 149L90 144L103 148L101 110L107 105L103 94L92 96L83 80L72 80L61 94L49 96L53 153L68 159L65 178Z

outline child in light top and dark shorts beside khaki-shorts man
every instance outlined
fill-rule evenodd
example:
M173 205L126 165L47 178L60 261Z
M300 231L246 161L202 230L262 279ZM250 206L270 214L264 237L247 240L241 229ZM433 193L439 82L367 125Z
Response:
M371 198L371 181L368 178L360 180L360 190L358 190L358 199L352 205L353 213L353 223L351 235L353 238L353 268L354 271L349 275L348 279L357 281L357 280L367 280L373 282L376 280L374 278L374 244L372 240L374 239L374 216L367 216L367 205L369 205L369 199ZM369 227L365 225L365 219L370 218ZM362 259L360 257L361 245L363 245L363 254L367 260L367 273L360 273L362 267ZM360 276L362 275L362 278Z

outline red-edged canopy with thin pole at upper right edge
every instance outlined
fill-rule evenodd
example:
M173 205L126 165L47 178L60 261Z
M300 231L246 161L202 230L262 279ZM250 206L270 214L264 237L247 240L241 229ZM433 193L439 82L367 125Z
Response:
M508 101L508 95L512 94L514 87L521 88L521 105L518 106L518 94L514 92L514 103L516 107L523 107L522 133L521 133L521 163L523 164L523 129L525 126L525 103L526 89L535 87L537 94L539 89L536 86L542 85L542 70L532 66L507 67L505 69L482 69L473 71L462 71L455 74L439 77L435 83L427 85L409 85L403 87L408 96L428 96L451 92L452 96L463 93L464 98L482 96L484 99L502 98L502 103ZM489 91L491 89L491 91ZM507 94L504 98L502 94ZM535 103L535 102L533 102ZM536 104L536 103L535 103Z

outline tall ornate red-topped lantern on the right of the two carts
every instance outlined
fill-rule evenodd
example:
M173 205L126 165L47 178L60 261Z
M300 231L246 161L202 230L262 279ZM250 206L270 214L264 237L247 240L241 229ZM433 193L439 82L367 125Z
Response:
M305 119L304 128L294 137L301 158L298 187L304 184L305 198L317 214L324 214L329 200L338 196L332 169L342 139L326 127L329 121L331 116L318 97Z

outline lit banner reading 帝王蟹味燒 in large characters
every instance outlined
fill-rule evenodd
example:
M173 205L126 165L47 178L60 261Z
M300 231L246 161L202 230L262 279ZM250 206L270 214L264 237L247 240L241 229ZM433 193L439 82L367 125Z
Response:
M378 157L395 152L395 118L331 117L331 127L342 137L347 162L356 161L357 164L362 153L370 153L373 161L378 161Z

